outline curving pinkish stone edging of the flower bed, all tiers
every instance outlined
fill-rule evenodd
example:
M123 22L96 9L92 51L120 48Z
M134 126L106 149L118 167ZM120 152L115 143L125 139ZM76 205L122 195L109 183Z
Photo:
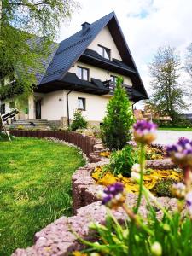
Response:
M13 253L14 256L30 256L30 255L68 255L74 250L80 250L84 246L77 241L76 237L71 233L71 229L80 237L92 240L93 234L89 231L89 224L92 221L105 223L106 208L101 205L97 197L98 190L103 189L103 185L97 184L91 177L91 173L99 166L105 166L109 163L108 153L102 147L100 141L94 146L95 152L90 154L90 162L87 166L79 168L73 174L73 212L75 216L71 218L62 217L53 224L49 224L35 235L35 244L27 249L18 249ZM102 154L101 154L102 152ZM148 168L158 168L159 171L154 172L165 176L166 172L162 170L173 169L175 165L170 159L148 160ZM161 171L160 171L161 170ZM177 177L176 173L172 173ZM178 178L178 177L177 177ZM180 177L179 177L180 178ZM175 210L177 201L174 198L160 197L158 199L161 205ZM128 193L126 195L126 203L129 207L134 207L137 203L137 194ZM147 217L146 201L142 199L139 212L142 216ZM156 210L159 218L162 217L160 209ZM126 218L123 209L113 211L114 216L121 222Z

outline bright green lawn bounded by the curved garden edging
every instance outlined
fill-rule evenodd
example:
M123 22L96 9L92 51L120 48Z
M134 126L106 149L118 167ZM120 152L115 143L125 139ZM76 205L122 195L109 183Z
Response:
M34 233L72 207L78 149L33 138L0 142L0 255L32 245Z

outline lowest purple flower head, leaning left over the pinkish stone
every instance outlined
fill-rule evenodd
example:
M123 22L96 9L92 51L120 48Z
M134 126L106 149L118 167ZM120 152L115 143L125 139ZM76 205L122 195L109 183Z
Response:
M114 183L104 189L102 204L109 208L118 208L125 202L125 190L122 183Z

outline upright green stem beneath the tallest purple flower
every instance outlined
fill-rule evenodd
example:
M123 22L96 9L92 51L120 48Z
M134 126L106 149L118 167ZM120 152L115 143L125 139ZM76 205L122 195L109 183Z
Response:
M142 194L143 194L143 171L145 168L145 145L141 143L141 153L140 153L140 181L139 181L139 195L137 199L137 206L134 211L135 214L137 214L138 209L140 207L141 201L142 201Z

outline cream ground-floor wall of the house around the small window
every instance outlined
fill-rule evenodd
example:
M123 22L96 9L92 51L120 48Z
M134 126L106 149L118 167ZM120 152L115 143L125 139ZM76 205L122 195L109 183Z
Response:
M60 120L67 118L67 92L69 90L58 90L44 94L42 98L42 119ZM72 91L68 95L69 118L73 119L73 113L78 108L78 97L85 98L86 110L82 111L84 117L89 121L102 121L106 113L106 106L111 96L96 96L88 93Z

